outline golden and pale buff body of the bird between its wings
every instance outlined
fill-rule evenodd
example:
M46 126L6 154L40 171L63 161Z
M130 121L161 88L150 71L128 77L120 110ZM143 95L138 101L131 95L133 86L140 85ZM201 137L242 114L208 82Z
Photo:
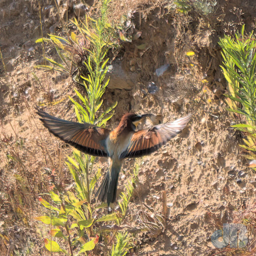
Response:
M134 132L121 133L116 135L115 131L110 132L106 147L110 158L120 159L121 154L129 147Z

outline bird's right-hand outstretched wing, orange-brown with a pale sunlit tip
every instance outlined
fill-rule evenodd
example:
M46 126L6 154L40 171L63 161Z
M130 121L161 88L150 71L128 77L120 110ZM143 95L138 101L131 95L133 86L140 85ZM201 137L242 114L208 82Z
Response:
M128 149L122 153L121 158L139 157L156 151L181 132L191 116L192 114L189 114L172 123L159 124L150 129L135 132L132 135Z

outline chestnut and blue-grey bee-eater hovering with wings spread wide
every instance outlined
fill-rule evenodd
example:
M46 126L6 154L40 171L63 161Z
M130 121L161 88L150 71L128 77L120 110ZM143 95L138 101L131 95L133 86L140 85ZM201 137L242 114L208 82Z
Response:
M136 131L137 124L151 114L124 114L119 125L113 130L89 123L66 121L37 109L43 125L55 136L78 150L110 158L109 171L105 174L96 196L102 202L114 203L122 162L125 158L148 155L175 137L187 125L192 114L174 122L155 125Z

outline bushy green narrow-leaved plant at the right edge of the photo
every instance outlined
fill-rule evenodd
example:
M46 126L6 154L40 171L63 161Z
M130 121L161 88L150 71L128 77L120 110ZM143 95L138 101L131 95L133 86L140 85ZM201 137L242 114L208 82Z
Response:
M223 74L228 82L226 102L228 110L245 123L232 127L247 135L240 145L249 151L250 159L256 159L256 41L253 32L246 35L244 25L235 38L224 36L219 42L224 59Z

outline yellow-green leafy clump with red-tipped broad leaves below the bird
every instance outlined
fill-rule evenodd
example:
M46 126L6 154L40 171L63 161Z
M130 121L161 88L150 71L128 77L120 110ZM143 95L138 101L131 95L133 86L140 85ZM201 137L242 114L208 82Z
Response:
M77 154L80 152L76 151L74 153ZM80 199L86 198L89 193L84 192L86 187L84 189L81 185L81 179L79 179L77 173L79 167L72 158L69 157L68 159L73 163L71 165L67 162L75 180L75 192L64 192L59 188L55 188L56 193L53 190L49 193L52 200L51 204L43 198L39 198L40 203L48 209L50 213L50 216L36 217L36 220L51 226L49 232L51 239L44 239L46 249L51 252L62 252L66 255L74 255L74 252L79 249L76 254L79 255L86 251L93 250L99 241L99 235L104 237L104 240L109 241L110 232L113 231L116 243L112 245L112 250L109 253L110 255L125 255L131 248L131 235L122 231L122 228L118 228L118 232L115 232L115 229L113 229L111 225L109 228L105 225L103 229L102 226L99 226L99 223L114 221L120 225L123 222L128 203L133 195L133 183L137 180L139 166L136 165L134 168L131 181L128 181L126 191L121 195L121 202L119 202L121 212L104 215L97 213L96 209L102 208L106 206L106 204L94 205L88 203L87 199ZM97 175L100 175L100 170L96 173L96 176ZM95 182L96 179L94 178L90 180L90 189L93 189ZM128 195L128 197L126 195ZM61 248L58 242L53 241L52 237L62 241L62 244L67 243L70 248L70 253Z

